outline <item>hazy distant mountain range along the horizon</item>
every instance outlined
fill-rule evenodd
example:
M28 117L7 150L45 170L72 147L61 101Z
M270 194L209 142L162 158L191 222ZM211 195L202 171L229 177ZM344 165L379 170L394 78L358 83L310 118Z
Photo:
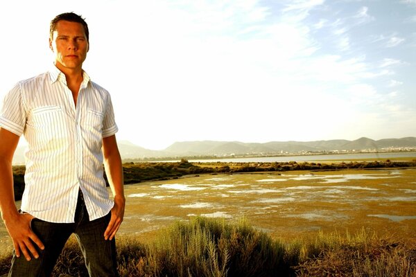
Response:
M182 141L164 150L148 150L128 141L119 141L122 159L162 159L174 157L229 157L244 155L308 154L319 152L416 150L416 137L402 139L361 138L355 141L271 141L241 143L239 141ZM16 150L13 162L24 163L23 147Z

